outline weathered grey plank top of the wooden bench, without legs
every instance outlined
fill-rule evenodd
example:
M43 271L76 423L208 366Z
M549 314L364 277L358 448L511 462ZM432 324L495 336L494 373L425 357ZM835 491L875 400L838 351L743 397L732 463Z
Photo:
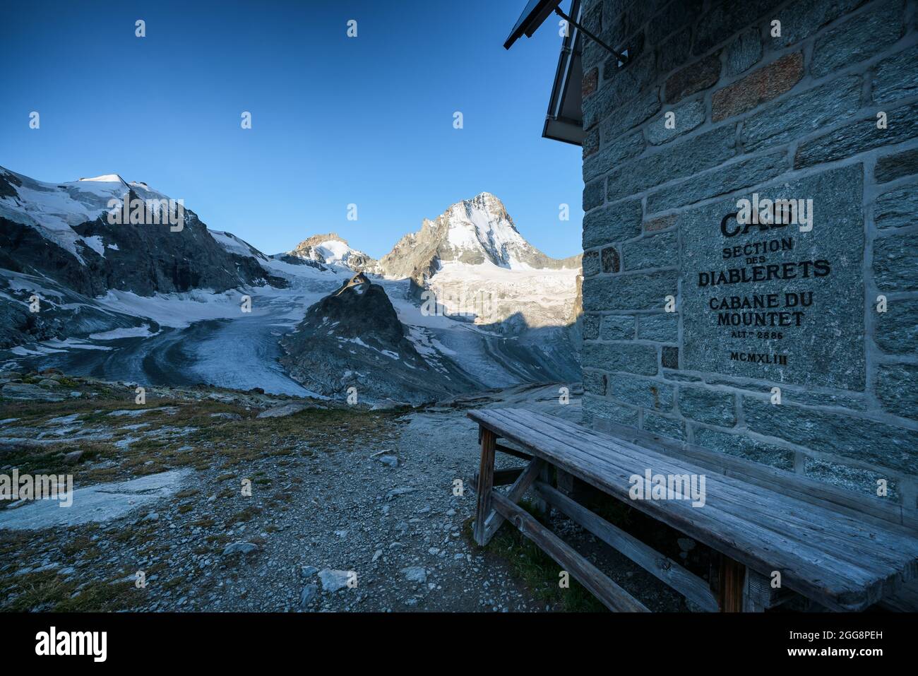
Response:
M918 538L903 526L860 522L831 505L801 501L737 477L554 416L520 409L469 417L534 456L671 525L828 607L862 610L918 576ZM632 475L705 475L706 503L632 501Z

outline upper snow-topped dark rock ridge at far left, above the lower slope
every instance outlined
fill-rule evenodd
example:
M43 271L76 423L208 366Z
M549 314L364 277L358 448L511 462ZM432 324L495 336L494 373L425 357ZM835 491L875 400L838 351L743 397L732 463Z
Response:
M168 199L118 175L55 185L0 168L0 266L48 277L87 296L108 289L151 296L244 284L284 286L251 254L227 251L190 209L175 228L110 223L109 200L120 205L125 196Z

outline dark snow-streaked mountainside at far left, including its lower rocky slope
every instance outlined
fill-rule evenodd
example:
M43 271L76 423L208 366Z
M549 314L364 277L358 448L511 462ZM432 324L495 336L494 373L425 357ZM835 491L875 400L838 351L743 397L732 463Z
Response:
M264 254L228 233L212 235L189 209L174 226L163 218L151 225L110 223L109 200L120 207L126 198L143 200L149 215L168 200L118 175L51 184L0 167L0 348L156 325L129 307L106 307L113 293L287 286ZM38 299L38 311L29 310L31 299Z

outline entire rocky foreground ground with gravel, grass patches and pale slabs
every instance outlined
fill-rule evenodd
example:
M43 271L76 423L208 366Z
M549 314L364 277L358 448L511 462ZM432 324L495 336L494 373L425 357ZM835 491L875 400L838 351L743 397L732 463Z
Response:
M577 584L559 589L557 565L515 530L484 549L470 538L478 451L465 411L576 419L577 389L565 405L555 385L372 410L210 387L147 389L139 405L134 384L56 372L0 381L0 474L72 474L76 489L69 508L0 501L4 610L601 609ZM549 522L648 607L686 609L575 524Z

